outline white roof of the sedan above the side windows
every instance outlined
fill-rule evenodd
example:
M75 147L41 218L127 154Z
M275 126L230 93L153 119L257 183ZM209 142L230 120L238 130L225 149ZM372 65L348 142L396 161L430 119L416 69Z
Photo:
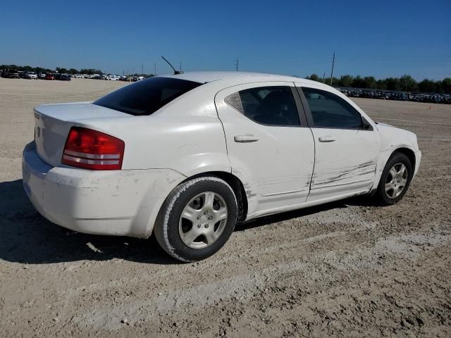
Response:
M171 77L174 79L188 80L199 83L214 82L220 80L236 80L237 84L246 83L249 81L284 81L284 82L308 82L311 84L320 85L320 82L305 80L301 77L267 74L267 73L252 73L252 72L188 72L182 74L159 75L161 77ZM324 86L324 84L322 84Z

